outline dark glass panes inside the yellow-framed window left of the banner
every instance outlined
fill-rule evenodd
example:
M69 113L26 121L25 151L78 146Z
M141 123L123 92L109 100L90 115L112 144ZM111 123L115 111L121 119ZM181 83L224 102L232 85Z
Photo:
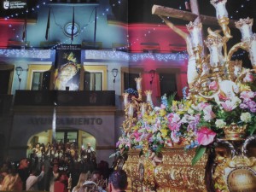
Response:
M49 90L50 71L33 72L31 90Z

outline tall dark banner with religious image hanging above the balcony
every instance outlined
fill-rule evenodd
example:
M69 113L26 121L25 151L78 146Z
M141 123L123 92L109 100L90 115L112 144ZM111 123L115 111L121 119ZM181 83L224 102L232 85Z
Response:
M81 47L76 44L61 44L56 49L55 90L79 90Z

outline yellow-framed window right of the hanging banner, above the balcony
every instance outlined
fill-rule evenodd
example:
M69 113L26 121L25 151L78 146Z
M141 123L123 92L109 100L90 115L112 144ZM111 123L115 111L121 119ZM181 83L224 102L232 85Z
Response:
M90 66L84 63L84 73L81 77L83 81L82 88L84 90L107 90L107 66Z

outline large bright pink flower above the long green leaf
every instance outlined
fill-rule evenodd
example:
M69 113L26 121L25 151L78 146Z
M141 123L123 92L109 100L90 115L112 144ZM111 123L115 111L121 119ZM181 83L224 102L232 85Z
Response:
M197 132L197 141L200 145L208 145L213 142L216 133L207 127L201 127L201 130Z

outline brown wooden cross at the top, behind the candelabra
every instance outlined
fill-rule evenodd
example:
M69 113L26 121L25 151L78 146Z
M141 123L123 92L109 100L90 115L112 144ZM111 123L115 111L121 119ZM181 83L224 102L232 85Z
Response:
M153 15L172 17L181 20L201 21L202 24L218 26L216 17L200 15L197 0L190 0L191 13L188 11L166 8L160 5L154 5L152 8ZM230 27L235 27L235 20L230 20Z

